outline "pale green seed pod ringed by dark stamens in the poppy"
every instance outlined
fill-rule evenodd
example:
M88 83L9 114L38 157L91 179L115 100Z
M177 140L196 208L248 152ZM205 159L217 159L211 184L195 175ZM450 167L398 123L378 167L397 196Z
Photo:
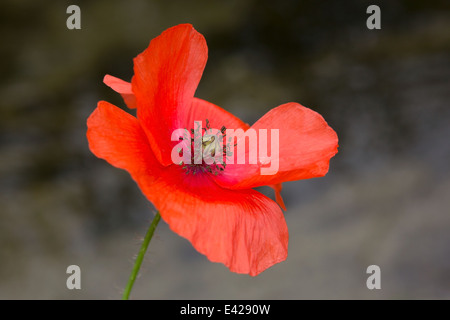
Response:
M226 167L226 157L231 156L230 148L224 146L225 126L220 130L211 128L211 124L206 119L205 127L201 121L195 121L195 128L191 129L190 137L185 136L180 140L185 140L191 147L190 163L180 162L186 174L197 174L209 172L218 175Z

